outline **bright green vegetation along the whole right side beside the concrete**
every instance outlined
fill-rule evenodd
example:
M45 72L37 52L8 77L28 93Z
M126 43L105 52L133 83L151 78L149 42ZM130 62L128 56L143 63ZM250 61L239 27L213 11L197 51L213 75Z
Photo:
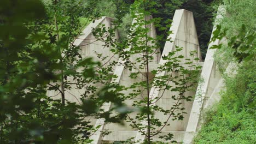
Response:
M255 1L225 1L228 16L217 28L228 45L217 46L215 60L225 79L222 100L207 111L206 122L194 143L255 143L256 64ZM224 74L228 64L237 65L236 74Z

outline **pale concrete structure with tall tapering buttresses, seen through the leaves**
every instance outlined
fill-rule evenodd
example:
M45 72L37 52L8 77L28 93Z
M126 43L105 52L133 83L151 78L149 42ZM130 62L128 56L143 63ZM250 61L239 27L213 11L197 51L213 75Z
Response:
M220 15L217 16L217 19L220 19ZM146 17L146 20L151 19L152 17ZM113 79L111 82L113 83L119 83L123 86L130 86L134 82L139 82L144 79L143 75L139 75L140 79L131 79L129 75L131 73L135 73L137 70L129 70L125 69L125 62L124 59L119 58L118 55L114 55L110 51L110 47L104 47L104 43L102 41L96 41L94 35L92 34L92 28L96 28L97 26L104 24L106 27L111 27L111 21L109 17L102 17L99 20L96 20L95 23L90 23L89 26L87 26L83 34L80 35L75 41L74 45L80 46L81 48L81 54L82 57L93 57L96 61L101 61L96 55L96 53L102 53L103 56L107 56L107 58L104 60L106 62L106 65L104 67L107 67L109 63L113 61L117 61L118 64L113 67L114 71L112 74L116 75L117 78ZM136 20L133 20L133 23L135 23ZM156 38L156 32L153 23L149 24L147 26L150 31L148 33L149 37ZM215 27L213 28L214 31ZM196 131L200 128L200 122L202 120L202 109L211 107L215 101L219 100L219 91L223 87L223 80L220 77L220 74L216 68L216 64L213 60L213 54L216 50L209 49L207 51L205 62L201 62L201 53L200 53L200 47L199 47L199 41L197 39L196 34L196 27L195 22L193 18L193 13L190 11L181 9L176 10L174 17L173 17L173 23L170 28L170 31L172 33L169 35L169 38L171 38L171 41L167 41L164 47L164 51L162 54L160 54L160 50L157 50L158 52L154 53L154 60L149 63L150 70L156 69L158 65L162 65L166 63L167 61L165 59L162 59L162 56L168 55L169 52L174 51L176 48L175 46L183 47L183 50L179 53L184 56L185 58L191 58L189 55L190 51L197 51L196 57L200 59L200 61L194 61L193 64L197 65L203 65L201 77L203 78L203 82L200 83L200 85L195 89L195 91L186 92L185 95L196 95L194 101L181 101L182 106L185 108L185 111L187 114L184 115L183 121L168 121L166 127L162 129L162 133L160 135L167 135L168 133L171 133L174 135L174 139L177 142L184 142L184 143L190 143L191 140L194 137L194 134ZM118 39L118 34L117 39ZM209 45L211 47L212 45L222 43L222 41L214 41ZM132 47L128 47L125 51L130 51ZM135 59L139 57L139 55L133 55L131 56L131 61L135 61ZM185 60L184 60L185 61ZM184 61L181 62L181 64L184 64ZM184 64L185 65L185 64ZM170 75L170 73L166 73L166 71L163 71L162 73L159 73L156 76L164 76L164 75ZM177 73L173 73L172 75L178 75ZM154 78L153 74L150 74L150 78ZM68 78L69 82L73 82L72 77ZM100 84L92 84L97 87L101 87ZM174 83L168 83L168 85L175 86ZM79 103L79 98L75 97L74 95L80 95L80 93L83 93L85 89L78 91L77 88L72 87L70 91L67 91L67 99L69 101L76 101ZM130 91L126 91L124 93L131 93ZM171 98L171 95L177 94L176 92L165 92L163 93L160 91L160 89L156 87L152 87L150 89L150 98L154 99L156 97L159 97L159 95L162 95L162 98L157 101L154 105L159 105L161 107L164 107L166 110L170 109L171 105L176 103ZM49 91L48 95L53 97L57 95L57 97L60 98L60 94L58 94L56 91ZM125 103L127 105L132 105L134 99L132 100L126 100ZM112 105L110 103L106 103L103 105L104 111L108 111ZM131 117L135 117L136 113L132 113ZM156 113L155 115L159 119L162 119L162 121L166 121L168 119L168 116L163 115L162 113ZM92 124L95 125L95 127L99 127L96 133L94 133L90 138L94 140L95 144L100 143L109 143L113 141L125 141L127 139L130 139L131 137L135 137L136 141L139 141L141 143L146 137L144 137L138 129L131 128L129 126L129 123L125 123L125 125L119 125L119 124L106 124L104 123L104 119L91 119L90 120ZM144 124L145 122L141 122L141 124ZM170 125L168 125L170 124ZM102 131L109 131L111 132L109 135L102 136ZM158 137L153 137L153 141L158 141Z

